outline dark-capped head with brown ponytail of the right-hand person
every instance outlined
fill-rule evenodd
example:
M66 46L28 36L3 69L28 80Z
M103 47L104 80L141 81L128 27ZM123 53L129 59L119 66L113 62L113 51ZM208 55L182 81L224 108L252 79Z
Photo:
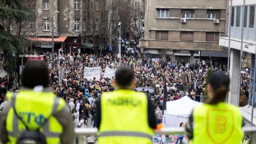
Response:
M229 83L229 77L223 72L213 73L208 82L212 87L213 98L208 101L208 104L217 104L224 101L229 91Z

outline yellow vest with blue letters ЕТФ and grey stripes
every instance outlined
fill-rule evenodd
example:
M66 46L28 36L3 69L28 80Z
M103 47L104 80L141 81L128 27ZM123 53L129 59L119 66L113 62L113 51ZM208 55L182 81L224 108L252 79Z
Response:
M39 131L46 137L48 144L59 144L59 136L63 132L63 128L52 114L62 110L65 106L63 99L55 97L53 92L34 92L20 91L17 95L7 94L12 105L15 105L17 115L22 118L29 130ZM46 121L45 121L46 120ZM11 107L7 119L6 128L10 144L16 144L17 137L26 126L14 113Z

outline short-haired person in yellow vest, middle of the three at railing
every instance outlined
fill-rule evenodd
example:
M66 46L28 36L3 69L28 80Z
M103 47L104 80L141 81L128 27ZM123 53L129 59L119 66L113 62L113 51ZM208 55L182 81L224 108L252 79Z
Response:
M103 93L96 102L98 144L151 144L157 127L154 108L142 92L133 91L134 72L129 67L116 71L117 90Z

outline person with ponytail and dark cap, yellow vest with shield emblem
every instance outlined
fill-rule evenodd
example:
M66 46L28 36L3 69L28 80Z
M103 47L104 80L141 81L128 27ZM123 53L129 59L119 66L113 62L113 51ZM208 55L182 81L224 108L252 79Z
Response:
M213 73L208 81L209 101L195 107L185 130L190 144L240 144L243 138L242 116L236 106L224 103L230 79Z

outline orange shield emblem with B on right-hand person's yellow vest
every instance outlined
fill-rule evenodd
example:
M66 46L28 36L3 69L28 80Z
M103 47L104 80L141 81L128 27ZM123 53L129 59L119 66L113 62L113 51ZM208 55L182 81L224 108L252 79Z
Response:
M207 134L216 144L223 144L234 130L234 113L229 110L207 111Z

